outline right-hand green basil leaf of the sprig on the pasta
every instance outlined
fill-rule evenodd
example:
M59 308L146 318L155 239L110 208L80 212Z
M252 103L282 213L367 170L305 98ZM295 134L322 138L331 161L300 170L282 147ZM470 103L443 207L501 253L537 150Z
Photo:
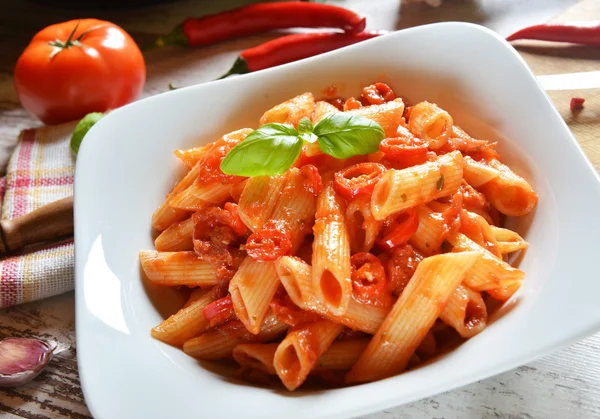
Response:
M314 133L323 153L337 159L374 153L385 137L377 122L345 112L326 115L317 123Z

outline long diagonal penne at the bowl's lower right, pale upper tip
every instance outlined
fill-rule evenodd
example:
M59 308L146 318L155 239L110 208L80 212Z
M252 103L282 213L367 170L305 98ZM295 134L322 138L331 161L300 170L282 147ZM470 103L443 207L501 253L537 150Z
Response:
M373 381L402 372L465 273L480 257L477 252L463 252L423 259L358 362L346 374L346 381Z

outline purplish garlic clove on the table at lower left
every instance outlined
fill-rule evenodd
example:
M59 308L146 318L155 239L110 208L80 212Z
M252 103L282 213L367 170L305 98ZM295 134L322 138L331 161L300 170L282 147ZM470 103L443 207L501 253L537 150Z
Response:
M17 387L33 380L48 365L55 348L39 339L0 341L0 387Z

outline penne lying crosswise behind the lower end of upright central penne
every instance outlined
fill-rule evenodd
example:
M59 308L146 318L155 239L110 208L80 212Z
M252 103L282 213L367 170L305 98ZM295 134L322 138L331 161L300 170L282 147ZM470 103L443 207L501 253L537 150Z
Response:
M299 258L284 256L275 262L275 267L294 304L351 329L374 334L390 311L387 307L363 304L351 298L344 314L333 314L316 296L310 265Z

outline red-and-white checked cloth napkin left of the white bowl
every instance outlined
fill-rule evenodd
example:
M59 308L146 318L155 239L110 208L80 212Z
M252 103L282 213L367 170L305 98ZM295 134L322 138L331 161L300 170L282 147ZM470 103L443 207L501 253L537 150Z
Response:
M73 194L75 159L69 141L75 124L21 132L0 181L3 220ZM0 260L0 308L72 290L73 267L73 239L44 248L31 246Z

